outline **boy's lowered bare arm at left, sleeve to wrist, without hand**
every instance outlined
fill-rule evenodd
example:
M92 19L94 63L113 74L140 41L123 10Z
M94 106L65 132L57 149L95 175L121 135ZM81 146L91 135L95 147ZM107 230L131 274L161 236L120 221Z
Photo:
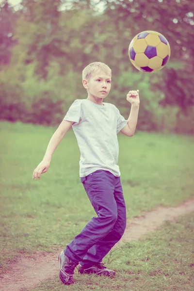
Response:
M54 134L52 135L49 141L49 145L47 147L43 161L49 161L49 162L51 161L51 158L55 149L57 148L59 143L62 141L65 134L71 128L73 123L74 123L73 121L62 120L58 129L56 129L56 131L54 132Z

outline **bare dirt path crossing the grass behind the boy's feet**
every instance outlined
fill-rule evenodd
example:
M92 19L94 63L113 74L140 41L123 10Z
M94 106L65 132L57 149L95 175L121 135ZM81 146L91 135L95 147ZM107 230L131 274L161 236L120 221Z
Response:
M165 220L173 221L178 216L194 211L194 199L181 203L177 207L158 207L153 211L144 211L142 216L128 220L122 239L123 242L142 238L146 233L156 230ZM60 249L61 251L62 249ZM58 274L58 253L36 253L28 259L19 259L12 263L9 271L0 277L0 291L20 291L21 288L32 288L47 278Z

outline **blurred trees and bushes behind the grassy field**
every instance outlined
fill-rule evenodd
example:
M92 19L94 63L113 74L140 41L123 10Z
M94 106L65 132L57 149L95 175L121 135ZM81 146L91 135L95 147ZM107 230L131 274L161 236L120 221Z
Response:
M5 0L0 24L0 119L57 124L75 99L86 98L81 72L94 61L112 68L106 102L126 118L126 95L140 90L137 129L179 132L180 115L192 114L194 3L189 0L23 0L16 11ZM130 40L144 30L161 32L171 46L170 61L157 73L138 72L129 62ZM176 125L164 128L169 106L176 108L171 111Z

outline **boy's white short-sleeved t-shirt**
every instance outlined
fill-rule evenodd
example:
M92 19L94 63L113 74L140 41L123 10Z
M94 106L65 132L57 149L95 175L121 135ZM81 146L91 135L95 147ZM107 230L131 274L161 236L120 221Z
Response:
M64 120L73 121L73 131L80 148L80 177L97 170L120 177L118 162L118 132L126 120L111 103L98 105L88 99L76 99Z

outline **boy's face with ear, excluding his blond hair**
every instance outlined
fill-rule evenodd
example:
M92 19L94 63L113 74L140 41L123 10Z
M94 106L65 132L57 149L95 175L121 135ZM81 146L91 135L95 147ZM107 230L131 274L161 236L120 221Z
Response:
M111 90L111 76L108 73L96 70L89 80L83 80L83 86L88 90L88 95L105 98Z

